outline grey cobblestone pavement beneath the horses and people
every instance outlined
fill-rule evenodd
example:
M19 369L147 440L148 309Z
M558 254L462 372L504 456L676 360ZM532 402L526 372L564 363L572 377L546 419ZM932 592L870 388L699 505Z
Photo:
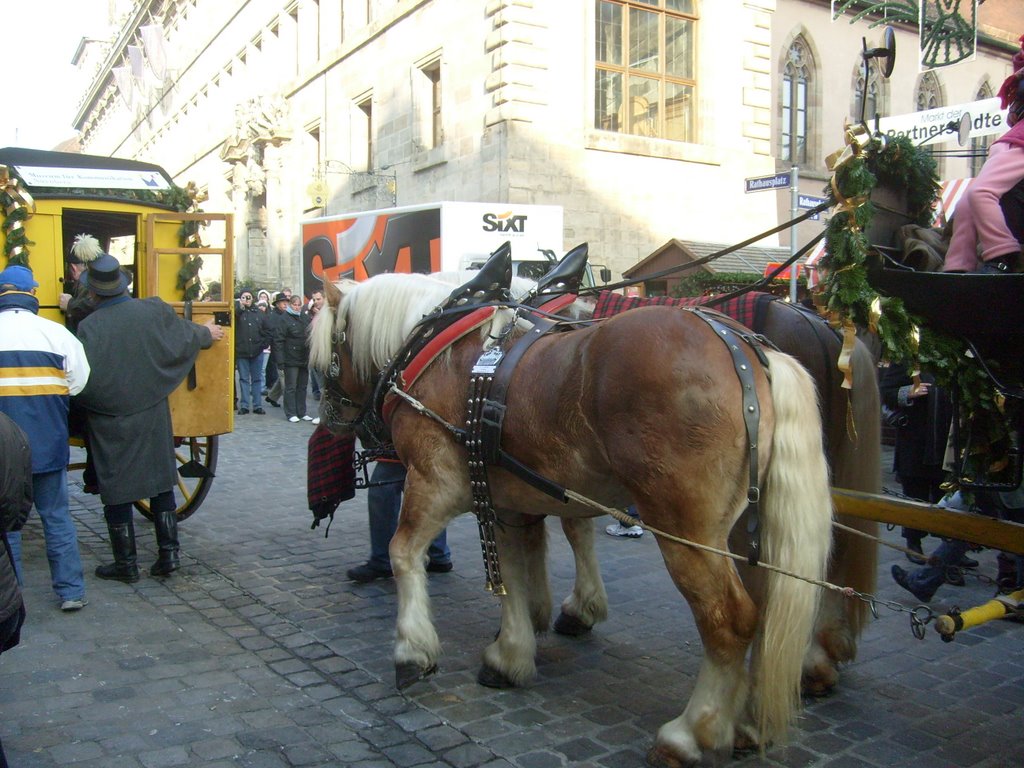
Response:
M314 406L314 403L310 403ZM591 636L539 639L538 678L524 689L475 683L498 628L482 590L475 521L450 528L456 568L429 588L444 646L440 671L395 691L391 581L356 585L365 560L365 495L339 509L330 536L309 529L307 423L280 410L238 417L221 438L217 478L181 525L183 568L166 581L102 582L110 558L98 498L72 475L89 605L62 614L48 584L38 517L25 536L29 622L0 657L0 738L13 768L50 766L617 766L642 765L656 728L682 710L699 638L650 536L599 532L609 621ZM595 520L602 531L606 519ZM155 559L136 516L140 563ZM572 562L549 521L557 606ZM887 538L897 540L897 532ZM931 540L926 540L926 543ZM981 571L994 574L983 553ZM912 607L889 577L879 597ZM990 597L969 578L943 587L940 612ZM841 689L807 703L791 743L736 766L979 766L1024 764L1024 627L997 622L940 642L910 633L908 613L880 609Z

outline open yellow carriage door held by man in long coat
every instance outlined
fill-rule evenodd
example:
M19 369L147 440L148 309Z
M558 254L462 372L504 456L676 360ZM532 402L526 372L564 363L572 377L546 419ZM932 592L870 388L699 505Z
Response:
M199 241L181 245L182 226L202 222ZM233 425L234 263L230 214L151 213L145 217L143 296L159 296L182 317L224 327L223 340L199 354L195 370L171 394L179 437L230 432Z

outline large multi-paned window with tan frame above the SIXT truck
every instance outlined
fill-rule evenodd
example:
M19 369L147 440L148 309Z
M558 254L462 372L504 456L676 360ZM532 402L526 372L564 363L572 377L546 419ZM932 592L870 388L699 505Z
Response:
M598 0L594 127L694 141L694 0Z

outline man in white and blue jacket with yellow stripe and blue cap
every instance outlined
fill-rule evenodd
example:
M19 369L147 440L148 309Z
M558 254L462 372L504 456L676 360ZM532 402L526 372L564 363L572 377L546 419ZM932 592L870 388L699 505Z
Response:
M0 412L29 435L51 584L60 609L74 611L85 605L85 580L68 509L68 412L70 395L89 380L89 361L71 331L39 316L38 286L27 266L0 271ZM22 534L7 541L23 582Z

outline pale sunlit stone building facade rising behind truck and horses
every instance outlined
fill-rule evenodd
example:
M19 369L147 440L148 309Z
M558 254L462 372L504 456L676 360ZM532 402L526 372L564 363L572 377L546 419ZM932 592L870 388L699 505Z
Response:
M112 5L116 39L94 44L76 119L82 151L195 181L207 210L236 214L239 276L267 286L297 284L301 220L394 204L560 205L557 246L589 242L615 276L672 239L745 239L788 218L788 196L749 194L744 179L791 165L794 44L813 75L801 191L817 195L861 38L881 37L833 23L827 0ZM999 25L974 60L935 75L940 98L998 88L1016 45ZM913 38L898 32L902 51ZM880 105L913 112L923 77L901 58Z

